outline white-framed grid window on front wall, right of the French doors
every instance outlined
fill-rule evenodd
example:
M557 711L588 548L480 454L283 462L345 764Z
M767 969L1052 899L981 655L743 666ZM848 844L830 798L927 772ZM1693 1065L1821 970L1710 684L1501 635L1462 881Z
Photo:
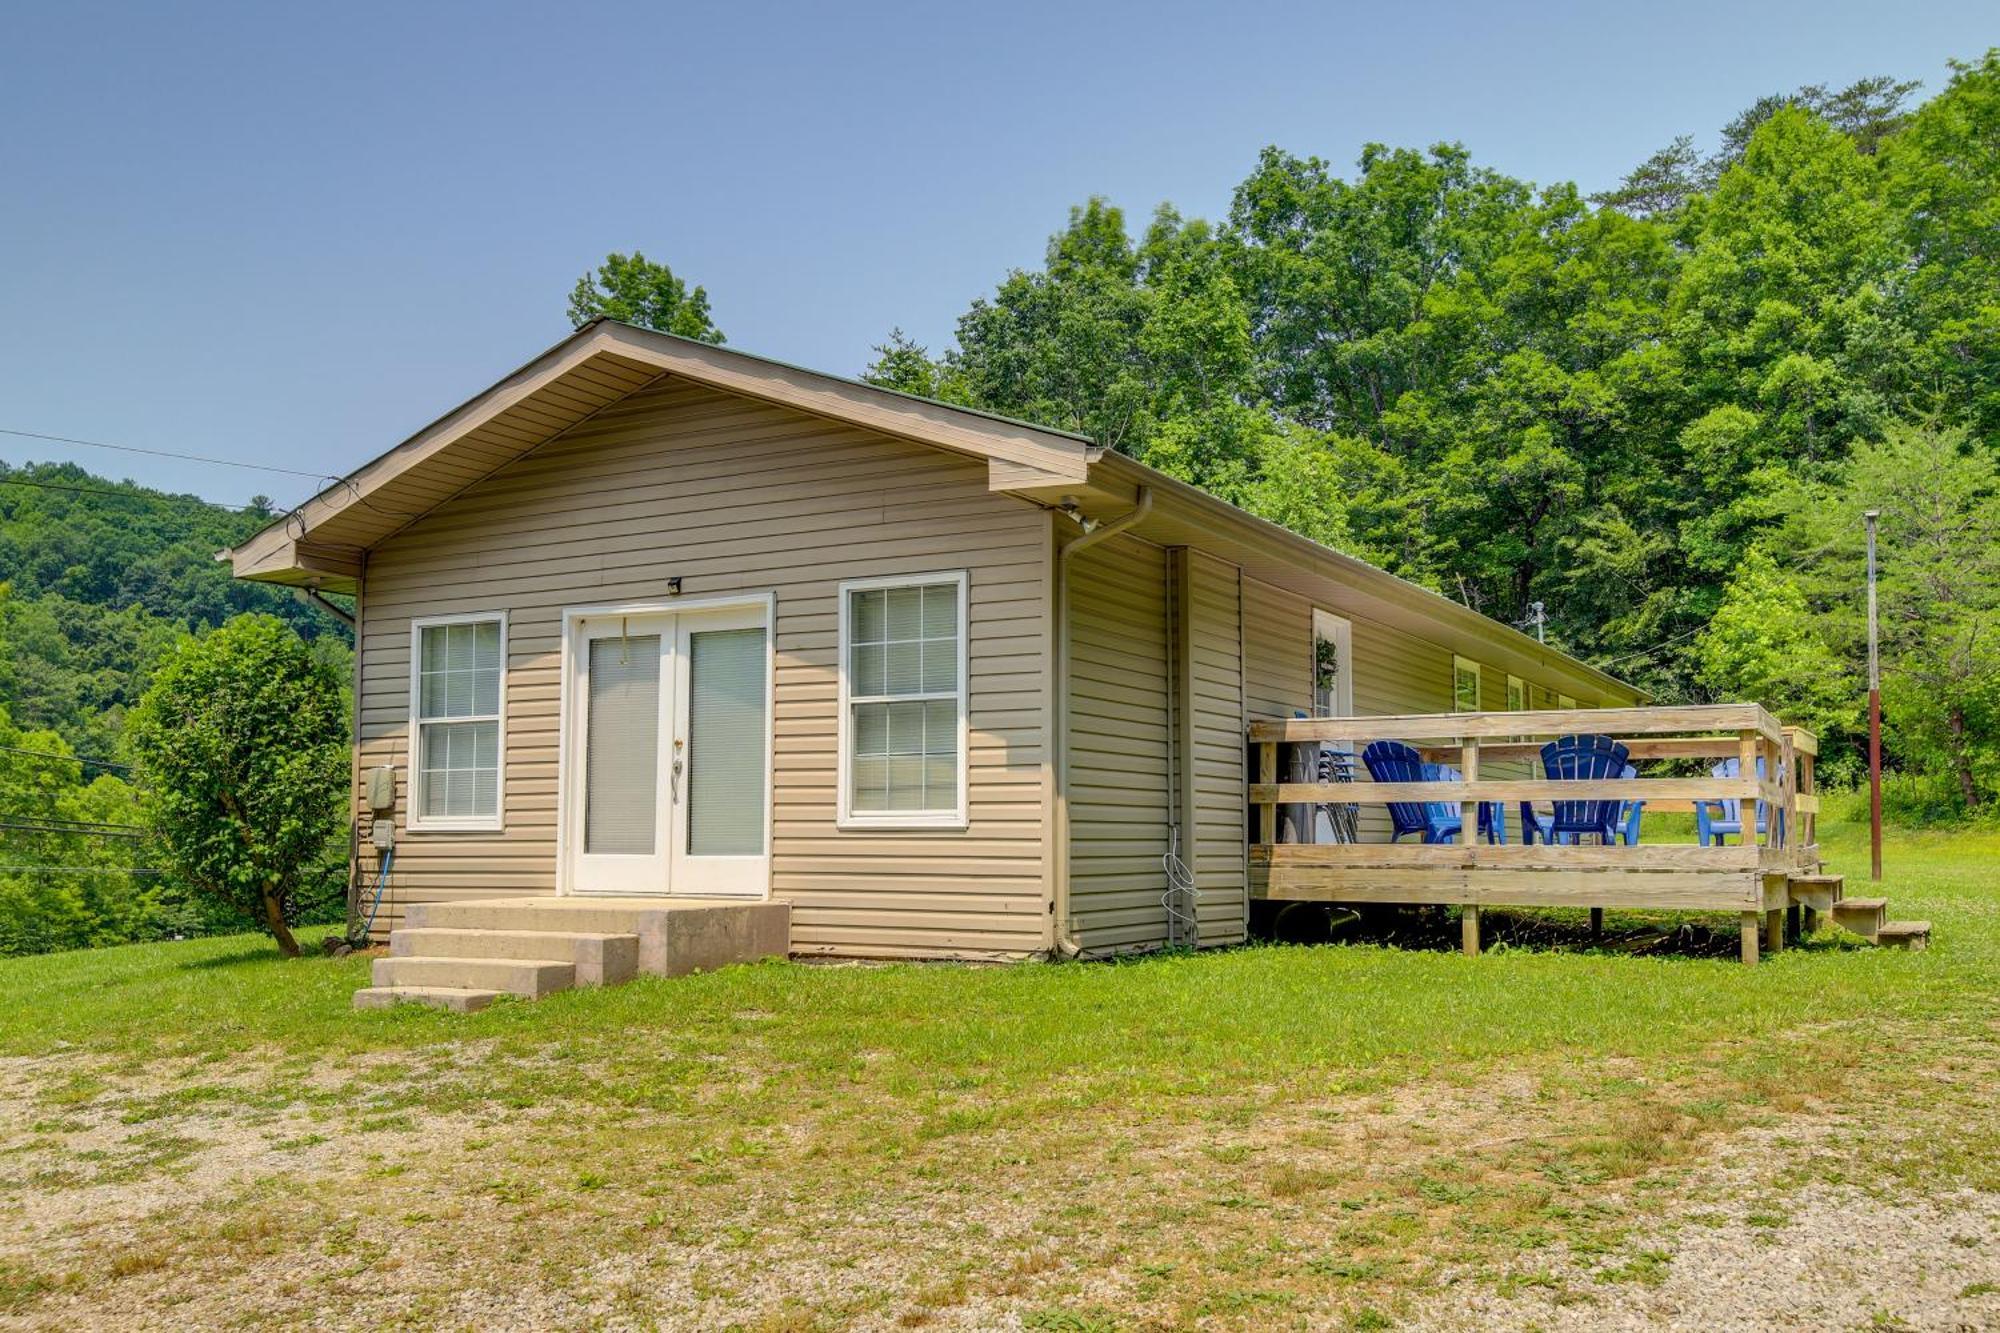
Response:
M842 829L966 827L966 574L840 584Z

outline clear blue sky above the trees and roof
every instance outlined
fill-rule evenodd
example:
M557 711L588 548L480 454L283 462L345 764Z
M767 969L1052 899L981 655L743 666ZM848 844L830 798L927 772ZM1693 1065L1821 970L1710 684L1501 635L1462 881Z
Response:
M1944 84L1990 0L16 4L0 426L340 472L640 248L734 346L938 348L1072 202L1218 216L1264 144L1462 140L1602 188L1756 96ZM310 482L0 436L218 500ZM0 572L4 576L4 572Z

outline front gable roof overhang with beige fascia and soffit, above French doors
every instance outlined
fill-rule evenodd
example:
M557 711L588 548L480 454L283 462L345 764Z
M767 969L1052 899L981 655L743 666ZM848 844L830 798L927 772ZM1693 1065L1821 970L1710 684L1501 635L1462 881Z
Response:
M660 376L984 460L994 490L1086 482L1096 452L1082 436L594 320L218 558L238 578L352 590L372 546Z

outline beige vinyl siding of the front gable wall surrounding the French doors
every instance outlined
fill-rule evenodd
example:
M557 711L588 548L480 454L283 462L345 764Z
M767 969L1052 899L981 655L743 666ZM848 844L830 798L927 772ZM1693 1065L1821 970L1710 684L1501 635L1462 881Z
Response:
M408 777L412 616L508 612L506 829L404 833L410 901L554 893L566 606L776 596L772 897L802 953L1046 947L1048 518L986 464L662 380L476 482L368 560L362 767ZM842 578L968 572L964 831L834 827ZM400 809L404 803L398 803ZM372 869L372 867L370 867Z

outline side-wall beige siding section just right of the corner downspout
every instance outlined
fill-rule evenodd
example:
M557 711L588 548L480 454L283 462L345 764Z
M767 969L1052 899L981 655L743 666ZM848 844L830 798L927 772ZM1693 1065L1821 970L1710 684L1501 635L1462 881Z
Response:
M1166 935L1166 550L1114 536L1070 576L1070 917L1086 953Z

